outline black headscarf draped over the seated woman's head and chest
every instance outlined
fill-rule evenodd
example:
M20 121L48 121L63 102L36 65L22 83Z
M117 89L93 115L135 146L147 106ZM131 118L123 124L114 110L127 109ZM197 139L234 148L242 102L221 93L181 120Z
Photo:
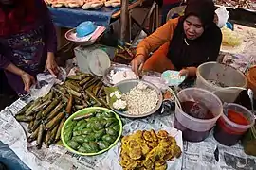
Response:
M172 60L175 69L197 67L201 63L217 59L222 33L213 23L214 9L212 0L190 0L188 2L185 15L179 18L169 47L168 58ZM204 26L203 34L195 40L186 39L183 28L185 19L191 15L197 16Z

